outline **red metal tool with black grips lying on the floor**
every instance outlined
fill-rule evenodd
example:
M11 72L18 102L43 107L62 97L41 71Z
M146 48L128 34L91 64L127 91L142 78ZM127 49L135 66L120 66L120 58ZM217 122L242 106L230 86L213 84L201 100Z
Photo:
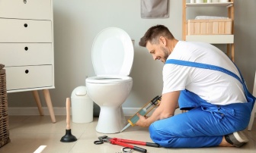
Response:
M150 146L150 147L156 147L156 148L160 147L160 145L158 145L157 143L139 142L139 141L134 141L134 140L130 140L130 139L110 138L108 136L99 136L98 139L99 140L94 141L95 145L101 145L104 142L108 142L113 145L121 145L121 146L125 147L123 149L130 148L130 149L133 149L133 150L139 151L139 152L147 152L147 150L145 148L140 148L135 145L144 145L144 146ZM130 145L129 143L133 144L133 145Z

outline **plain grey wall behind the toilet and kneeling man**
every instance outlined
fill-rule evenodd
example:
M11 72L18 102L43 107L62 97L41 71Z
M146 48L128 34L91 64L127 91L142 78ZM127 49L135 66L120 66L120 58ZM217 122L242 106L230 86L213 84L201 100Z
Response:
M72 90L76 86L85 86L85 76L94 76L91 45L94 37L107 27L120 27L135 40L130 73L133 89L123 107L139 108L155 95L161 95L163 64L153 61L138 42L146 30L156 24L164 24L177 39L181 39L182 1L170 0L169 5L170 17L142 19L139 0L53 0L56 70L56 89L50 89L53 107L65 107L66 97L70 97ZM250 90L256 66L255 5L256 1L235 1L235 63L242 68ZM199 9L196 12L205 11ZM188 14L195 15L192 11ZM8 105L36 107L30 92L8 94ZM46 106L44 102L43 106Z

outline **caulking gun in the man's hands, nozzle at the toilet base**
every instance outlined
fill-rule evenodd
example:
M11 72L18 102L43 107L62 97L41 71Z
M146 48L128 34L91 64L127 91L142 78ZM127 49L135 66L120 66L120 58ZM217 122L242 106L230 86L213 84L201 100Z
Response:
M151 101L149 101L143 108L141 108L137 113L141 114L142 116L146 116L150 111L152 111L155 106L160 104L162 96L156 96ZM130 117L129 120L127 120L129 123L127 123L126 126L124 126L123 130L126 130L129 126L135 126L135 123L139 120L139 117L137 116L137 113L133 115L133 117ZM123 130L120 131L120 133L123 132Z

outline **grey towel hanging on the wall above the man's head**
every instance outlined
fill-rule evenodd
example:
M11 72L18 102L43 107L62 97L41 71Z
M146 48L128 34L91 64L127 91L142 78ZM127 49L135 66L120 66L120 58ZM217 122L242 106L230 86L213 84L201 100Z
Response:
M141 0L142 18L167 18L168 0Z

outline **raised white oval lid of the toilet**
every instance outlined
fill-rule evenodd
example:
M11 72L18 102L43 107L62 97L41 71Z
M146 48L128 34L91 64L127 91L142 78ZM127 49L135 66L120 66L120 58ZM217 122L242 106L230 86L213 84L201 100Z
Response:
M130 36L117 27L98 33L91 48L91 60L97 76L128 76L133 55Z

